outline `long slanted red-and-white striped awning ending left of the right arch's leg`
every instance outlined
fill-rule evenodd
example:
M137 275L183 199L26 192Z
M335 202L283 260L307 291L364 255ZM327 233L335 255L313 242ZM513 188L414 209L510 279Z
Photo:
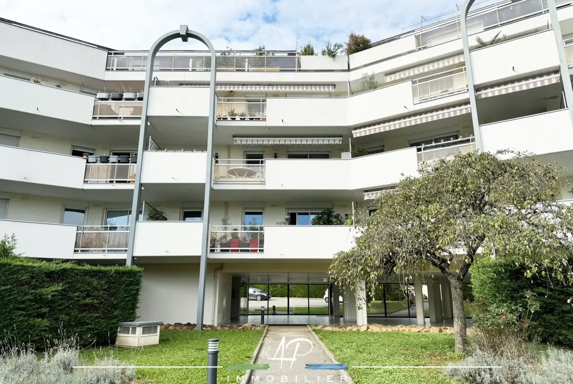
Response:
M398 120L380 122L374 125L364 126L363 128L356 128L352 130L352 136L360 137L367 134L385 132L387 130L404 128L405 126L422 124L434 120L441 120L442 118L460 116L461 114L470 113L471 109L469 104L453 106L451 108L433 110L423 114L404 117Z

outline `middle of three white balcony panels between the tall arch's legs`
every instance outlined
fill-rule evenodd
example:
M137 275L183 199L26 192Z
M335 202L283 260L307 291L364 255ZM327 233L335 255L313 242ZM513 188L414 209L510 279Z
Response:
M143 153L142 183L205 184L206 152Z

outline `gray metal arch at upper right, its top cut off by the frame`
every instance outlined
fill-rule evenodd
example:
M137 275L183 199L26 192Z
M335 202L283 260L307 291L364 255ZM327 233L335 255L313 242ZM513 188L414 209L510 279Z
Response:
M464 45L464 57L466 62L466 73L468 74L468 89L469 89L469 101L472 107L472 124L473 130L476 133L476 147L481 151L481 130L480 124L477 120L477 106L476 106L476 90L473 84L473 70L472 70L472 58L469 53L469 38L468 38L468 25L467 18L468 12L475 0L465 0L464 5L462 5L462 10L460 13L461 21L461 34L462 34L462 45ZM561 73L561 80L563 82L563 90L565 93L565 100L567 101L567 108L569 109L569 117L571 118L571 124L573 124L573 88L571 88L571 78L569 77L569 68L567 65L567 55L565 53L565 47L563 46L563 36L561 34L561 26L559 25L559 15L557 14L557 8L555 6L555 0L547 0L547 6L549 9L549 17L551 20L551 26L555 34L555 42L557 44L557 52L559 54L559 72Z

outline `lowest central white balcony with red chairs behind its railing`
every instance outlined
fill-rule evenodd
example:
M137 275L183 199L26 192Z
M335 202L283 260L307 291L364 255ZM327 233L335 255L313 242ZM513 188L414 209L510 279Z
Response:
M354 245L348 225L211 226L212 259L332 259Z

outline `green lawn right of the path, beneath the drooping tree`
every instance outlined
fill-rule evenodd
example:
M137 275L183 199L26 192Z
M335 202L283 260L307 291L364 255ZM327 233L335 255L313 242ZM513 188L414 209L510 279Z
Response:
M351 366L445 366L461 358L454 337L411 332L315 330L356 384L450 384L444 369L359 369Z

